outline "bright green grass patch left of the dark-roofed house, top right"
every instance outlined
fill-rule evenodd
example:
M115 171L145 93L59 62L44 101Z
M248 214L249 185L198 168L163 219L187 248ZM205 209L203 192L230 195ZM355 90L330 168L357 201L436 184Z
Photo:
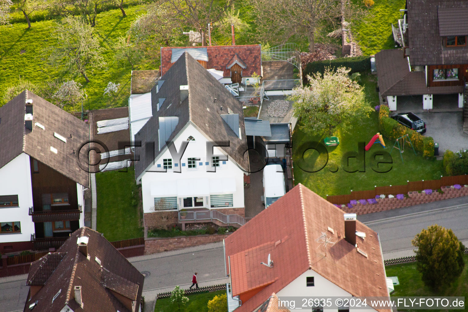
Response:
M366 15L351 22L352 34L364 55L372 55L382 49L395 48L392 26L400 18L400 9L405 8L405 0L374 0L370 8L364 8ZM360 3L362 0L353 0ZM362 5L364 7L364 5Z

